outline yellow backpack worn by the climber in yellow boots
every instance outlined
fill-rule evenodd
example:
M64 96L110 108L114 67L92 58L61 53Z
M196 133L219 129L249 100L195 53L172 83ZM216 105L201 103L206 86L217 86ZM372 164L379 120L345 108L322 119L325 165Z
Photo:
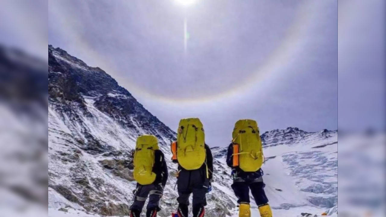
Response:
M255 120L238 120L232 133L233 165L245 172L255 172L263 163L259 127Z

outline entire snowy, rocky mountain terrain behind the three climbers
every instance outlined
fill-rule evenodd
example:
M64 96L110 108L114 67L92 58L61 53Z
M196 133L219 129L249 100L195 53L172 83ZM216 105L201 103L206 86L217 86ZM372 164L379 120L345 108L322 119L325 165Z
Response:
M153 134L166 158L175 132L100 68L66 51L49 53L49 216L129 214L132 149L141 134ZM289 127L261 135L267 196L276 216L320 215L337 205L337 131L305 132ZM213 190L207 216L237 216L237 203L225 164L226 147L213 147ZM159 216L176 209L176 165ZM253 201L253 200L252 200ZM252 204L253 216L258 216Z

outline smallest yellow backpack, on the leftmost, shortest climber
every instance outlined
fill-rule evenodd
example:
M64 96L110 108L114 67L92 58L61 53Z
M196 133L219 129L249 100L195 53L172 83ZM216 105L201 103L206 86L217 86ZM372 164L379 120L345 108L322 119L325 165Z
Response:
M154 151L158 150L157 137L143 135L137 138L134 152L134 179L141 185L149 185L156 180L152 172L154 165Z

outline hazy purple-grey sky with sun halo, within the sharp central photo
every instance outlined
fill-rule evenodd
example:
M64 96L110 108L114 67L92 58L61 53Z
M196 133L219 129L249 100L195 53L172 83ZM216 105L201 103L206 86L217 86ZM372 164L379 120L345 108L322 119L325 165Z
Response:
M238 119L262 132L337 129L337 2L50 1L49 44L99 66L171 129L210 146Z

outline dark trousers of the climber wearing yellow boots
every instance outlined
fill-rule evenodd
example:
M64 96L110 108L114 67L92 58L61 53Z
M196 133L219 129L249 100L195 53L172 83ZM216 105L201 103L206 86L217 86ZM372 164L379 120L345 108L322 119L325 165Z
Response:
M236 197L237 203L250 203L249 189L251 189L252 196L255 199L256 205L263 205L268 203L268 198L264 192L265 184L263 178L259 177L252 181L246 181L242 178L237 178L231 185Z

